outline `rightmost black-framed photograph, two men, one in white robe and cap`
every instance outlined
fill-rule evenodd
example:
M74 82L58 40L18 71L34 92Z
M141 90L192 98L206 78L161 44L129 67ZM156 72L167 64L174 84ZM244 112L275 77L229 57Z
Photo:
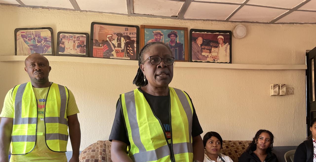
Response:
M190 61L232 63L232 32L227 30L190 30Z

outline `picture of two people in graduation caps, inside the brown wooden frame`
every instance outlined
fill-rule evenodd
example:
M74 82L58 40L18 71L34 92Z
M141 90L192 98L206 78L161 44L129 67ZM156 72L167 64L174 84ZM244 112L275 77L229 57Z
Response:
M175 60L185 60L184 30L145 28L145 44L162 42L169 46Z

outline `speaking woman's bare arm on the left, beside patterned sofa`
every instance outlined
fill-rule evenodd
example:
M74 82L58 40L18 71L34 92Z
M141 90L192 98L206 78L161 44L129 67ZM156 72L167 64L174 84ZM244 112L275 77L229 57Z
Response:
M133 162L132 159L127 155L127 144L122 141L112 140L111 144L111 160L113 162Z

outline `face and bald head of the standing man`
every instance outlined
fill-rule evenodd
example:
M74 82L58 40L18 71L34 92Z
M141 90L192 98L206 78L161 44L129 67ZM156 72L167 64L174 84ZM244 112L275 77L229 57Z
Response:
M47 82L49 72L52 70L49 66L49 62L40 54L32 54L27 57L24 69L30 79L35 83Z

